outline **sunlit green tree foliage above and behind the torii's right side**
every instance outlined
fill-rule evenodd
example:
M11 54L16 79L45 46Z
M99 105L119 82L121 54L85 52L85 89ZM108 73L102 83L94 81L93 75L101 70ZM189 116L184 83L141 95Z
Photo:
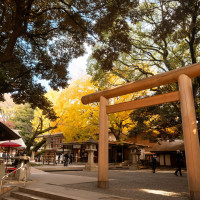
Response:
M145 0L140 1L133 10L126 15L129 19L128 28L121 30L130 38L127 42L124 40L128 51L127 48L118 49L116 42L113 42L113 38L117 38L116 31L103 32L104 43L98 43L94 48L88 63L88 73L100 88L109 86L112 75L130 82L200 61L198 0ZM118 18L121 19L121 16L118 15ZM151 94L176 90L178 85L171 84L152 88ZM197 121L200 122L200 77L193 80L193 93ZM152 133L154 129L159 131L158 137L182 135L178 103L135 110L131 118L137 122L131 134ZM169 127L175 128L174 135L167 134Z

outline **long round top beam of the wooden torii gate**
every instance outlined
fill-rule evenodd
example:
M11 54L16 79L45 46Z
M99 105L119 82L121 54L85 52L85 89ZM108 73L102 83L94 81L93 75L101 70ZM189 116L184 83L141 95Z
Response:
M174 82L178 82L178 77L181 74L186 74L190 78L200 76L200 63L181 67L179 69L171 70L165 73L161 73L149 78L145 78L136 82L124 84L122 86L111 88L108 90L92 93L81 98L83 104L89 104L93 102L99 102L100 97L103 96L106 99L122 96L132 92L137 92L160 85L166 85Z

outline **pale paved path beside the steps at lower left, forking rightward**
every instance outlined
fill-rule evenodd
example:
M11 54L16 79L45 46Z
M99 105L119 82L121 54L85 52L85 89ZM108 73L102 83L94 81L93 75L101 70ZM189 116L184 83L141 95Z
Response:
M48 167L49 168L49 167ZM61 168L60 168L61 169ZM65 168L66 169L66 168ZM55 169L52 168L54 171ZM64 170L64 169L63 169ZM96 199L113 199L103 193L88 192L86 190L67 188L66 185L96 183L97 179L94 177L76 176L76 175L63 175L52 174L43 172L34 167L31 168L32 181L26 187L34 188L41 191L49 191L59 194L67 195L68 197L80 200L96 200Z

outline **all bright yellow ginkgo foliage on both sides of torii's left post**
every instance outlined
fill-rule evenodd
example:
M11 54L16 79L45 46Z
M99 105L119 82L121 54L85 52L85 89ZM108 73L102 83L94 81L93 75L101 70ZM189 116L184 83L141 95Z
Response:
M57 121L50 122L48 119L43 120L43 126L54 126L51 134L62 132L65 137L65 142L83 141L88 139L91 135L98 138L99 132L99 105L93 103L83 105L81 97L97 91L97 88L91 83L89 77L82 77L72 82L69 87L60 92L49 91L46 97L53 103L54 111L59 117ZM119 103L122 101L132 100L133 95L125 95L112 99L110 104ZM123 135L128 133L134 124L129 118L131 111L125 111L109 115L109 128L120 134L117 139L122 139ZM42 116L42 111L35 110L35 117L32 121L33 127L37 128L39 118ZM44 116L43 116L44 117Z

